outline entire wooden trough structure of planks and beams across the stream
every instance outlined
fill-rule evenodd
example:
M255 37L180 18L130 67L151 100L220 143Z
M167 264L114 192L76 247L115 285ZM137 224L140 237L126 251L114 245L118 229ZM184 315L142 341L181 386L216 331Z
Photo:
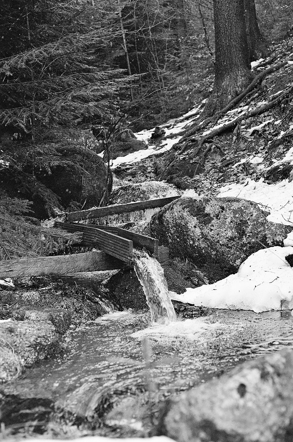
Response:
M98 251L1 261L0 278L73 274L77 272L106 271L131 267L133 266L133 247L145 248L162 265L167 264L169 249L159 246L159 241L155 238L130 232L129 230L119 227L86 225L73 223L73 221L163 207L177 198L180 197L175 196L142 202L131 202L129 204L67 213L67 222L56 222L55 225L68 232L82 232L82 241L75 245L98 248Z

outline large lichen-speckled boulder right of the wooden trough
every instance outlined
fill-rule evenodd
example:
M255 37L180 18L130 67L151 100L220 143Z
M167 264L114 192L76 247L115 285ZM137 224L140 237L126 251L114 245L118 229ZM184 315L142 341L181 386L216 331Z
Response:
M267 215L240 198L179 198L152 216L150 230L170 257L190 259L211 283L236 273L255 251L283 245L292 227Z

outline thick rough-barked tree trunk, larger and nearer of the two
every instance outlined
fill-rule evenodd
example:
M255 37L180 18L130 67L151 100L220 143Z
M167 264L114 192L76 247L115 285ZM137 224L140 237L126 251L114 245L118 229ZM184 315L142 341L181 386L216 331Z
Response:
M225 107L251 81L244 19L244 0L213 0L215 23L215 81L217 110Z

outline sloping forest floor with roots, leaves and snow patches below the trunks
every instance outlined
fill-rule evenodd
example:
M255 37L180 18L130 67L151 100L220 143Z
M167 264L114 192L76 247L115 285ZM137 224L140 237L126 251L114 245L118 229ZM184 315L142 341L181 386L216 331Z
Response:
M269 58L255 62L251 88L212 118L202 121L203 100L183 117L161 125L163 137L154 141L153 130L137 133L148 149L116 158L114 174L127 183L164 179L199 195L219 191L231 195L238 184L243 198L242 188L251 188L251 180L266 187L289 178L293 168L292 48L293 38L275 45Z

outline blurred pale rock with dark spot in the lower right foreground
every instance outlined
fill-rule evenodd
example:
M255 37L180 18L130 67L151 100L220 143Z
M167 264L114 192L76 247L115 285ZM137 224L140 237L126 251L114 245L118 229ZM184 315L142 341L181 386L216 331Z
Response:
M179 442L293 439L293 351L246 362L164 405L158 434Z

